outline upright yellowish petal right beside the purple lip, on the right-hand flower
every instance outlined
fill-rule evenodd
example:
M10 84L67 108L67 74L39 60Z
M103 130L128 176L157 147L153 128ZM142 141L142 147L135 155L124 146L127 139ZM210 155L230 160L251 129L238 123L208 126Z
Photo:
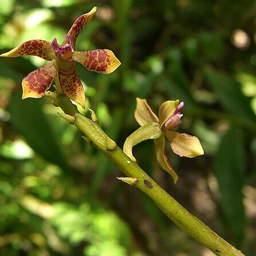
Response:
M159 123L161 127L161 131L165 131L165 123L172 117L175 113L177 106L179 105L179 100L167 100L162 103L158 114L159 114Z

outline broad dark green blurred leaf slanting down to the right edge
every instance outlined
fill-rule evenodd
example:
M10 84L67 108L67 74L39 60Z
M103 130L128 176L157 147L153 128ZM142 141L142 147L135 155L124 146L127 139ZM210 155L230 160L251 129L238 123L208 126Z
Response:
M212 68L207 68L205 75L225 110L241 118L255 121L255 114L250 107L249 99L242 93L241 84Z

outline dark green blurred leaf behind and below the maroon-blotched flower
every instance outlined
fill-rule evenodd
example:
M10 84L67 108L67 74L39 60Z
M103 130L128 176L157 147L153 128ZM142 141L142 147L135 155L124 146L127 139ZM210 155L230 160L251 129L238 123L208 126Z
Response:
M0 75L10 77L17 84L21 84L22 75L18 69L14 69L14 61L5 60L5 64L3 61L0 62ZM19 62L23 63L24 66L27 64L29 67L31 66L26 60ZM67 161L61 152L59 142L42 111L44 99L21 100L21 94L20 85L18 90L13 92L9 101L8 110L11 125L26 139L34 152L40 154L45 160L67 170Z

